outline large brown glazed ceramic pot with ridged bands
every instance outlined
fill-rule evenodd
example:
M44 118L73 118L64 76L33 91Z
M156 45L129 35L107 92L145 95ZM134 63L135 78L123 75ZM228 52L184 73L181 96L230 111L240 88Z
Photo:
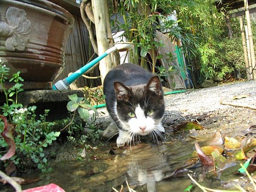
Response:
M1 0L0 58L24 89L51 89L64 68L64 48L74 18L46 0ZM7 87L10 87L6 81Z

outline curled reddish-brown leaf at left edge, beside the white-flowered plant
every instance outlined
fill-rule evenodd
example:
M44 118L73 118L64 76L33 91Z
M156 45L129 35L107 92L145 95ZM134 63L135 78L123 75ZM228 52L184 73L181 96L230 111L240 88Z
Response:
M2 136L9 147L9 151L0 158L0 160L3 161L14 156L16 151L16 145L13 140L13 133L11 133L11 129L8 126L6 117L3 115L0 115L0 118L3 120L4 126L5 126L5 128L3 128Z

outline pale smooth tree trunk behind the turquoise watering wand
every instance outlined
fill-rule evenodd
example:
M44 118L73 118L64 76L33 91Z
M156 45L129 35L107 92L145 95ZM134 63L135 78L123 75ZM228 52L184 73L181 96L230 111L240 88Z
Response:
M96 28L98 55L102 55L106 50L113 47L114 41L109 23L109 8L106 0L92 0L94 22ZM114 67L113 54L106 56L100 61L101 82L110 69Z

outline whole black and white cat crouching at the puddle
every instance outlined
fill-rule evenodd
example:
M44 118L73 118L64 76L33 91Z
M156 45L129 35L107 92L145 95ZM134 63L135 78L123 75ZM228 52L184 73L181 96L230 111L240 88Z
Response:
M139 135L156 137L164 132L164 98L158 76L139 65L118 65L105 77L104 94L106 108L119 128L118 147Z

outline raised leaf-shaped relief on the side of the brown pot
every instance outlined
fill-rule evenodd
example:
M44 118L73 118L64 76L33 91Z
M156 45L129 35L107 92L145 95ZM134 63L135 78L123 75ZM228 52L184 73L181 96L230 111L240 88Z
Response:
M6 51L23 51L31 36L31 22L26 18L26 12L16 7L6 11L7 23L0 23L0 36L6 37Z

